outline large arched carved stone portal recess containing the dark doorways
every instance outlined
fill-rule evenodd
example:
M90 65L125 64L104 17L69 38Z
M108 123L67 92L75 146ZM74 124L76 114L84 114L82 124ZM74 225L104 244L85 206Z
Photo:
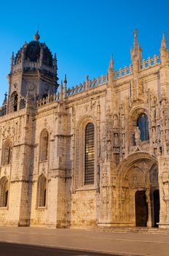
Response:
M152 159L130 163L123 173L120 191L120 215L124 225L157 227L160 214L158 170Z

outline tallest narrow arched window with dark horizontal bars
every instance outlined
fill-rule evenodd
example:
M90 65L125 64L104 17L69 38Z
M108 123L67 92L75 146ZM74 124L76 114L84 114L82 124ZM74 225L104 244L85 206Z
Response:
M95 170L95 128L92 123L85 129L84 184L94 184Z

